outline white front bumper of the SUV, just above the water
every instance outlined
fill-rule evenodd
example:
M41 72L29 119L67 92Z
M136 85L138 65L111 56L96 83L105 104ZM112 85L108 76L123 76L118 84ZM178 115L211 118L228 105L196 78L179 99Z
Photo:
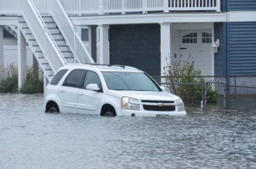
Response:
M157 116L157 115L168 115L168 116L184 116L187 115L186 111L147 111L147 110L125 110L118 109L117 116Z

